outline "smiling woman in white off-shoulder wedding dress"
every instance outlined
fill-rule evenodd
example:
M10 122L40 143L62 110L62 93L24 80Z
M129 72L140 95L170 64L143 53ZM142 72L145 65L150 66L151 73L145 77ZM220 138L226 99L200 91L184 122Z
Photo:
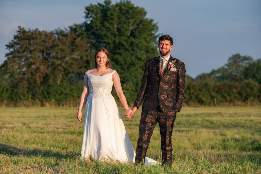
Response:
M81 159L135 162L135 151L111 95L114 85L125 115L130 118L132 110L122 92L120 77L110 68L109 52L105 48L97 49L94 60L95 68L85 72L77 113L78 120L82 121L81 110L86 102ZM151 158L145 159L145 164L156 163Z

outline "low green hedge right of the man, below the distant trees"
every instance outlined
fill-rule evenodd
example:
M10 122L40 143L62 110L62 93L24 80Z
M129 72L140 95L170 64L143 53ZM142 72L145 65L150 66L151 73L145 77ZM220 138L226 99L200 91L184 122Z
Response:
M252 79L242 82L192 82L186 85L187 105L260 105L261 85Z

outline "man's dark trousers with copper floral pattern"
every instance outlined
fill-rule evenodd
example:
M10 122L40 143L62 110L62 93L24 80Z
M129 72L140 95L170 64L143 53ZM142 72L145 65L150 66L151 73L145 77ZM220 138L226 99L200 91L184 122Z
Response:
M169 112L162 112L159 106L153 111L142 110L136 149L136 164L144 162L150 138L157 122L159 122L161 134L162 165L172 164L171 136L176 114L176 109Z

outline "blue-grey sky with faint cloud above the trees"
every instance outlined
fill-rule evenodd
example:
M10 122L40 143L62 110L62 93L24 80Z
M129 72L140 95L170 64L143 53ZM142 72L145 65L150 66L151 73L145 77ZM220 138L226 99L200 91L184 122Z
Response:
M84 21L90 4L104 1L0 1L0 64L5 60L5 44L13 38L17 26L51 31ZM112 0L112 3L118 1ZM261 1L133 0L147 11L174 44L171 55L182 60L186 74L195 77L223 66L239 53L261 58ZM155 55L156 56L156 55ZM112 58L113 61L113 58Z

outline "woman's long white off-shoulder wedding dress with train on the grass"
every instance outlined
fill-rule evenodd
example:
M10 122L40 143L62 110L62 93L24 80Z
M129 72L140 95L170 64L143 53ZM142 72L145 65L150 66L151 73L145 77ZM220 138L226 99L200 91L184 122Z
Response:
M111 95L115 72L103 76L85 73L90 93L85 106L81 159L135 161L135 151ZM145 164L157 163L151 158L145 159Z

